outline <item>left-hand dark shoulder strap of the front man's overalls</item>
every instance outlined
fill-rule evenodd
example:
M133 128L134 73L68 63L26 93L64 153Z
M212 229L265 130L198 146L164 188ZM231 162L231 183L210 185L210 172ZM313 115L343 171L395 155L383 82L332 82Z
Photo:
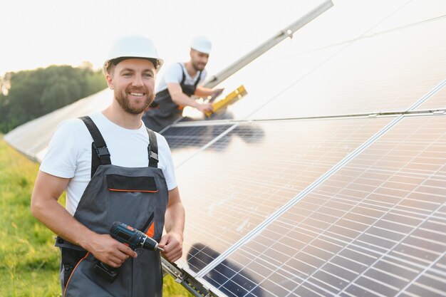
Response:
M87 126L91 137L93 137L93 143L91 144L91 176L93 177L100 165L111 164L110 152L108 152L107 144L93 120L88 116L82 117L81 120Z

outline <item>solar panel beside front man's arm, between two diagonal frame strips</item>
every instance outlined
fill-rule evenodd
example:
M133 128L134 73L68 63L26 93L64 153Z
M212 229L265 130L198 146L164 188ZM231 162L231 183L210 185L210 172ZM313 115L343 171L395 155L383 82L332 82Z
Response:
M284 120L234 127L177 167L187 216L193 218L187 220L187 253L180 265L199 271L206 249L228 249L391 120Z

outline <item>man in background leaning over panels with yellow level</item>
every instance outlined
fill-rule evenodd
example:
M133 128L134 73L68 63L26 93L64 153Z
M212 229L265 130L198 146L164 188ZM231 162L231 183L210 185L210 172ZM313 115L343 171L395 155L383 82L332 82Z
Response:
M207 61L212 44L205 36L192 38L190 61L175 63L167 68L157 86L157 95L147 113L142 117L145 125L159 132L182 116L185 106L192 106L202 113L212 111L212 104L198 103L191 96L206 98L218 95L223 89L204 88Z

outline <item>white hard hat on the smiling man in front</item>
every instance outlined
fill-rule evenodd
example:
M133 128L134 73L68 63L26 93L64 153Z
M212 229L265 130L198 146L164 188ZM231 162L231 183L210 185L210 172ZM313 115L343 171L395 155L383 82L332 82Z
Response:
M105 60L102 71L107 74L108 66L110 62L115 61L115 65L124 58L146 58L152 61L153 65L160 71L160 68L164 61L158 56L157 48L155 43L149 38L143 36L128 36L120 38L108 52L107 60Z

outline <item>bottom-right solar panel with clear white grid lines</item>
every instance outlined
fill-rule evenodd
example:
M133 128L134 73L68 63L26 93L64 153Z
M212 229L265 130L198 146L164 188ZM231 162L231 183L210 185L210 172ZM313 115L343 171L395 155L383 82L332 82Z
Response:
M444 296L445 127L403 119L204 279L227 296Z

